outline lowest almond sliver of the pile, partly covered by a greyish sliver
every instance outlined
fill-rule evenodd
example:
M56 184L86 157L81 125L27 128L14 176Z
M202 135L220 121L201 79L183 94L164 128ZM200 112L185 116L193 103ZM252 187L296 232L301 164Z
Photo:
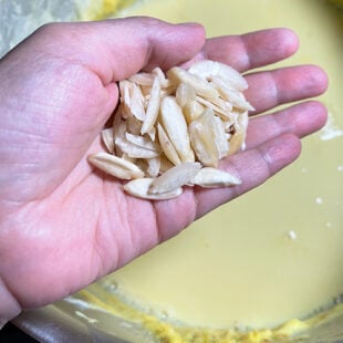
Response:
M124 185L124 190L135 197L148 200L167 200L176 198L183 194L181 187L174 188L173 190L163 194L150 194L149 189L153 183L153 178L137 178Z

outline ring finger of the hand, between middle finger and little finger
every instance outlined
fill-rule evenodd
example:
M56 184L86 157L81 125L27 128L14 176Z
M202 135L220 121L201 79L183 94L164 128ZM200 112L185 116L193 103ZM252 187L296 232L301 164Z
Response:
M285 133L292 133L300 138L304 137L320 129L325 124L326 117L326 107L315 101L252 117L248 125L247 149L254 148Z

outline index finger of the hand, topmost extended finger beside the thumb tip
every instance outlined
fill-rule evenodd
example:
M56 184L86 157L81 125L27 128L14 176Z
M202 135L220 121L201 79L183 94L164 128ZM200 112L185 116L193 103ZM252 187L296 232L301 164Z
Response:
M268 29L209 39L197 59L215 60L246 72L281 61L297 52L298 46L298 37L293 31Z

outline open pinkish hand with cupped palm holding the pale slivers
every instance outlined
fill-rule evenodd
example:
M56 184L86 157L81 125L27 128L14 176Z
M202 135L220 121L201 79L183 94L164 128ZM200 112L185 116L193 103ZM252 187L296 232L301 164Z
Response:
M300 154L326 111L304 101L326 89L314 65L249 72L298 49L287 29L206 40L199 24L150 18L49 24L0 61L0 323L71 294L261 185ZM127 196L87 156L113 113L116 82L141 70L211 59L247 73L256 107L247 149L220 168L242 184L179 198Z

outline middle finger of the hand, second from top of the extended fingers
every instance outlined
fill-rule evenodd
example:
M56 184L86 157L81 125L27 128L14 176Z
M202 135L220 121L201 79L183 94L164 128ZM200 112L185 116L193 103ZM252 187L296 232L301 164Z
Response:
M246 76L249 89L245 95L259 114L278 105L318 96L328 87L325 72L315 65L300 65Z

